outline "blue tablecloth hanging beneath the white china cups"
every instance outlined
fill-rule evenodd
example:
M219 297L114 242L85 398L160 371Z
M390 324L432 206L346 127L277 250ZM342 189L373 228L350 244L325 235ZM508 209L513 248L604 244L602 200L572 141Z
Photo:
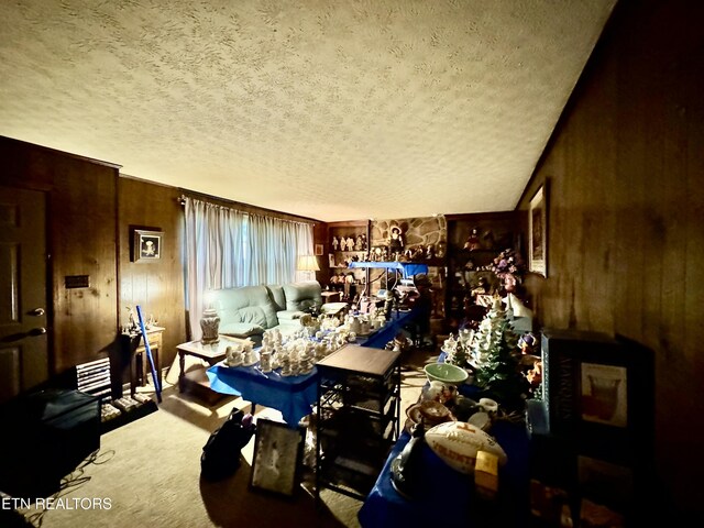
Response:
M308 416L318 403L318 371L315 367L304 376L282 376L278 371L264 374L256 366L233 367L218 363L206 374L213 391L279 410L292 427Z

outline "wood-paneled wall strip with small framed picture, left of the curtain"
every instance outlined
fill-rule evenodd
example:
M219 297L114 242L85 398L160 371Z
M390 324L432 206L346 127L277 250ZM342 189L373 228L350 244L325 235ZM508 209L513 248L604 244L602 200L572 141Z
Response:
M130 177L118 180L120 240L120 324L128 323L127 307L140 305L164 327L161 367L176 356L176 345L187 340L184 300L184 213L179 189ZM132 262L132 229L164 233L158 261Z

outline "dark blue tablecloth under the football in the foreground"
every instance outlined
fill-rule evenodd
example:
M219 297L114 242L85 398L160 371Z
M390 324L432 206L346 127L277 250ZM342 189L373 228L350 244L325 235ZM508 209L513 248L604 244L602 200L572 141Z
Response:
M477 498L473 476L450 468L427 444L421 455L421 493L413 501L399 495L392 484L391 464L410 440L404 431L358 514L360 524L363 528L529 526L528 432L515 424L497 422L492 435L508 457L499 470L495 503Z

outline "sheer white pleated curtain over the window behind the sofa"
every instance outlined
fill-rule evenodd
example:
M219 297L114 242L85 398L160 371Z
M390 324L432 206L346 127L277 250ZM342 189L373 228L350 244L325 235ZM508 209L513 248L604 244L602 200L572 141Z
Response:
M193 198L185 201L186 310L191 339L200 339L208 290L311 278L297 275L296 262L299 255L312 254L312 224Z

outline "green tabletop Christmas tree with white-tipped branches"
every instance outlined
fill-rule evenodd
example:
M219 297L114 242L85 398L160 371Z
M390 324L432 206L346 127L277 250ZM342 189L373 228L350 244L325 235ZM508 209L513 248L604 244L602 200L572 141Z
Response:
M509 410L520 409L528 382L520 372L518 336L514 332L501 299L496 299L480 323L472 342L474 384L487 389Z

